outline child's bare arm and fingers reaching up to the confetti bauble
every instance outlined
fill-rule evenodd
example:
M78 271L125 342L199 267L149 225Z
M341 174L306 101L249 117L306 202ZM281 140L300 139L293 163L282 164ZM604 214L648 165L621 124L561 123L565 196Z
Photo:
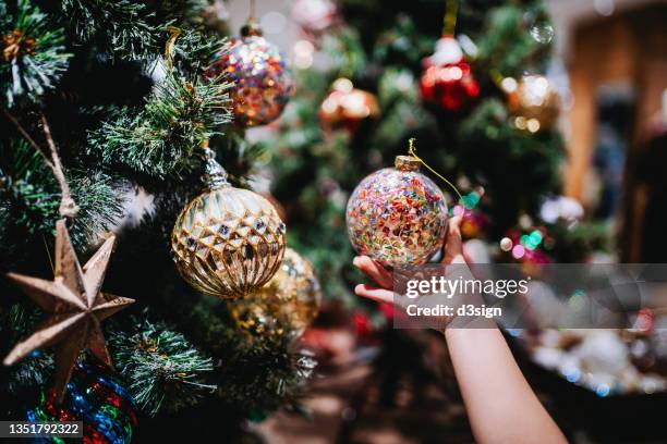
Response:
M442 263L464 263L460 218L449 222ZM355 293L395 303L391 273L367 257L354 266L380 285L360 284ZM480 443L566 443L521 373L497 328L446 329L445 337L472 431Z

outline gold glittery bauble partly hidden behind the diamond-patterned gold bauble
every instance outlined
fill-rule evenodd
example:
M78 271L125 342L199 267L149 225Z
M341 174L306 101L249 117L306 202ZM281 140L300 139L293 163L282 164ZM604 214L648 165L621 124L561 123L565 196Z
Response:
M313 266L288 248L280 268L259 291L229 304L237 325L254 335L300 336L322 306Z

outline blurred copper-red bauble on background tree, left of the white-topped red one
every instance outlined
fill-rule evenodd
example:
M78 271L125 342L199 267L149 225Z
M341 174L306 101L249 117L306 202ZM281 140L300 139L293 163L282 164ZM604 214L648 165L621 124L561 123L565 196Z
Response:
M319 121L325 130L344 127L353 132L362 121L378 116L375 95L354 88L348 78L333 82L331 92L319 107Z

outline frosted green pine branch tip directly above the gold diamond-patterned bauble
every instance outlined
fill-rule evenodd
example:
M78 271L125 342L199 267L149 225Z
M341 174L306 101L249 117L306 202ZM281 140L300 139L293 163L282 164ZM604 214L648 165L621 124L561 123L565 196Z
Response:
M112 168L156 178L179 176L201 164L199 145L231 121L227 82L167 72L140 112L125 109L88 138L88 152Z

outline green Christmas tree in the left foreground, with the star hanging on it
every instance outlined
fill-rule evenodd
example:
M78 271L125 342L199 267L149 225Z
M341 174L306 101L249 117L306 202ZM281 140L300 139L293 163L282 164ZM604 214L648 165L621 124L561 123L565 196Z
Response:
M300 409L314 367L292 346L291 332L303 325L277 318L272 331L280 334L250 337L230 314L233 301L186 285L171 258L174 221L202 193L202 177L218 174L211 181L220 185L211 151L237 186L247 186L262 156L244 144L244 130L233 126L239 101L230 92L238 79L225 70L206 72L240 44L222 38L219 8L199 0L0 1L0 271L43 279L13 275L53 313L50 330L38 325L41 310L0 280L0 355L31 332L43 334L25 342L37 347L25 359L14 363L29 351L17 347L5 361L13 365L0 370L3 419L88 422L90 408L111 415L104 403L114 403L122 411L90 424L88 442L129 442L133 434L138 442L175 440L195 433L192 428L213 440L277 408ZM66 229L59 225L56 240L61 218ZM259 217L251 230L283 236L284 226L264 221ZM101 282L110 244L82 271L66 232L82 258L109 230L119 235L104 289L135 304L104 322L107 354L98 329L112 299L95 293L93 282ZM218 235L226 233L218 229ZM239 254L253 254L242 246ZM54 247L58 257L51 258ZM282 255L279 246L270 248ZM278 266L280 259L270 271ZM83 351L80 343L102 361L82 359L72 367ZM57 374L48 348L54 344ZM62 367L65 361L71 365ZM70 381L62 404L60 393L50 391L53 377ZM134 431L130 404L140 416Z

